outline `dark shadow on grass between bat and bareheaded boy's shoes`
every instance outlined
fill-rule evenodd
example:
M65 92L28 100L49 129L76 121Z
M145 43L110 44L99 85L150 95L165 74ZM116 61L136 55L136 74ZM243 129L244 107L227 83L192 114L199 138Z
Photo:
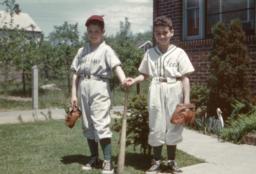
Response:
M118 156L112 156L112 160L118 164ZM125 154L125 166L130 166L138 171L147 171L152 166L152 157L145 158L143 153Z

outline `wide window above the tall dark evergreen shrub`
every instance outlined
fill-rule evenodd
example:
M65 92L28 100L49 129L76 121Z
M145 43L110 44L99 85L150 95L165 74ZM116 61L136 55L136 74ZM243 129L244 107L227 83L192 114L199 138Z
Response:
M246 35L255 34L255 0L205 0L205 37L211 37L219 21L228 29L232 19L241 20Z

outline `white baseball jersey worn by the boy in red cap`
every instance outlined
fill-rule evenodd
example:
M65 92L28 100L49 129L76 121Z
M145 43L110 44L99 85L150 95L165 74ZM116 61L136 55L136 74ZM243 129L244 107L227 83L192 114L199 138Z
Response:
M106 43L101 43L94 50L90 44L80 48L73 60L71 70L80 75L98 75L110 78L111 72L121 64L116 52Z

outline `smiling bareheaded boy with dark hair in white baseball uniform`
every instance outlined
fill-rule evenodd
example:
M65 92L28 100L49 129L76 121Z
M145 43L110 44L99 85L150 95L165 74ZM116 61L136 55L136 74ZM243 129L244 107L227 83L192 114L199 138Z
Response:
M149 138L153 146L154 159L152 167L146 171L159 173L163 144L167 144L167 171L183 173L176 166L176 144L182 142L183 125L176 126L170 122L177 104L190 103L190 80L188 75L194 68L188 55L181 48L170 43L174 35L172 20L161 16L154 21L154 37L158 46L150 48L145 53L138 70L142 73L135 79L127 78L125 84L131 88L135 83L152 79L148 92Z

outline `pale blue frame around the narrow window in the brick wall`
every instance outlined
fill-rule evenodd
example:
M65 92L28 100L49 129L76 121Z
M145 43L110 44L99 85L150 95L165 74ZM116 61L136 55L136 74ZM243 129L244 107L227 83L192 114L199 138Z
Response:
M188 36L187 1L188 0L183 0L183 40L203 39L205 28L205 1L199 0L199 35L197 36Z

